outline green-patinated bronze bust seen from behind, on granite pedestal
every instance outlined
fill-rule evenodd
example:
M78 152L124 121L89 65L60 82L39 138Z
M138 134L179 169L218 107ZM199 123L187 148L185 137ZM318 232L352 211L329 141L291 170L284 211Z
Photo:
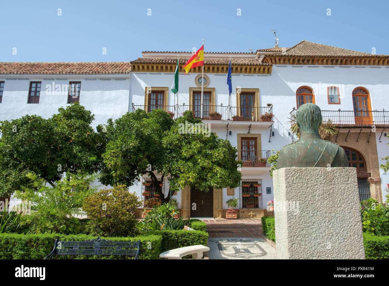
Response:
M312 103L301 105L296 112L296 122L300 129L300 139L280 150L277 169L349 167L344 149L336 143L320 138L319 125L322 117L319 106Z

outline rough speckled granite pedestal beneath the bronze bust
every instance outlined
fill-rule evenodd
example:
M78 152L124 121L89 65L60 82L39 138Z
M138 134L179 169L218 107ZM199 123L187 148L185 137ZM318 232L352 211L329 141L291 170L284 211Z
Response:
M365 258L355 168L282 168L273 183L280 258Z

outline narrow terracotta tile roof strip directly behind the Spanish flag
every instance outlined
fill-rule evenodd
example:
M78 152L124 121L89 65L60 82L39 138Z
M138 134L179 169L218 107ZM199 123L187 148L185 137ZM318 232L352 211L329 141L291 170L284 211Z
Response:
M187 59L180 59L180 65L185 65ZM205 59L204 65L228 65L230 63L229 59ZM157 64L157 65L176 65L177 59L170 58L137 58L135 61L131 61L131 64ZM270 65L269 63L261 63L258 60L231 60L231 65Z

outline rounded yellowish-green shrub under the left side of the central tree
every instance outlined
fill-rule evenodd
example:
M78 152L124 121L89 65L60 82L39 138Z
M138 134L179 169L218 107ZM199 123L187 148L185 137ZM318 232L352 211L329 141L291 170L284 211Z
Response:
M142 203L126 186L116 185L87 197L83 209L88 214L92 235L133 236L139 234L135 211Z

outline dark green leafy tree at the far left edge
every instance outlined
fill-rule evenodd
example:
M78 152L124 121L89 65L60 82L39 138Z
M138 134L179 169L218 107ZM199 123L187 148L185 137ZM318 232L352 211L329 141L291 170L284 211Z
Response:
M0 195L32 187L33 172L53 185L64 172L93 174L101 164L106 135L90 126L93 114L78 102L45 119L26 115L0 124Z

